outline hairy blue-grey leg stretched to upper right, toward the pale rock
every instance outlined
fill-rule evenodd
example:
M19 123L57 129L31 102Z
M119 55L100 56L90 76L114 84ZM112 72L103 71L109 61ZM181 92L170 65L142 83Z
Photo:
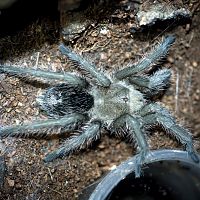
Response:
M165 37L160 45L156 46L152 52L141 59L136 65L117 71L115 73L115 77L119 80L125 79L138 72L143 72L147 68L150 68L153 64L160 61L163 57L167 55L169 48L174 43L174 41L175 37L173 36Z

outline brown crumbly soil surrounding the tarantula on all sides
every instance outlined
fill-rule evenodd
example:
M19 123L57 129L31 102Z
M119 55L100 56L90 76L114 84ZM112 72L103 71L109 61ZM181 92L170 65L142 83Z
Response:
M194 8L193 4L196 5L191 1L187 6ZM103 69L112 71L138 60L153 39L159 41L164 35L174 34L177 39L164 64L173 71L172 84L159 101L191 131L195 148L200 150L200 13L195 12L190 25L176 26L152 36L148 32L144 35L130 33L134 24L131 12L123 6L116 7L72 47ZM2 62L69 71L69 63L58 51L59 28L57 19L43 17L10 36L2 36ZM5 75L0 75L0 80L0 125L46 119L35 105L41 91L38 85ZM5 156L7 175L0 199L76 199L82 189L136 153L134 145L103 134L101 141L87 150L44 163L44 156L61 142L59 139L2 139L0 151ZM151 149L183 149L175 139L157 130L149 134L149 144Z

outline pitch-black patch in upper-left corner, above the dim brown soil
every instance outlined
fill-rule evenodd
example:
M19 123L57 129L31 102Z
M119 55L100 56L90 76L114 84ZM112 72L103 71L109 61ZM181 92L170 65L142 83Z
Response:
M13 35L41 17L59 17L57 0L18 0L0 12L0 37Z

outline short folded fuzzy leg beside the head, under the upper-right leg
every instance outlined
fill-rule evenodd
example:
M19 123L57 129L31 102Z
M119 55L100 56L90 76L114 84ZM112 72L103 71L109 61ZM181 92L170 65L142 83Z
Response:
M155 96L169 84L171 70L158 70L151 76L131 76L129 81L148 96Z

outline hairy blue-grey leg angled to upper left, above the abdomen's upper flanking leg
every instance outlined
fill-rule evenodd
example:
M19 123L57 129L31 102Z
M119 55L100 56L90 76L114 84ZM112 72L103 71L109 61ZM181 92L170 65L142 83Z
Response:
M88 62L86 59L81 57L80 55L74 53L70 48L64 46L64 44L61 44L59 46L59 49L61 53L65 56L67 56L73 63L80 67L81 69L88 72L92 77L94 77L97 82L103 86L103 87L109 87L111 84L110 79L97 70L96 66L90 62Z

